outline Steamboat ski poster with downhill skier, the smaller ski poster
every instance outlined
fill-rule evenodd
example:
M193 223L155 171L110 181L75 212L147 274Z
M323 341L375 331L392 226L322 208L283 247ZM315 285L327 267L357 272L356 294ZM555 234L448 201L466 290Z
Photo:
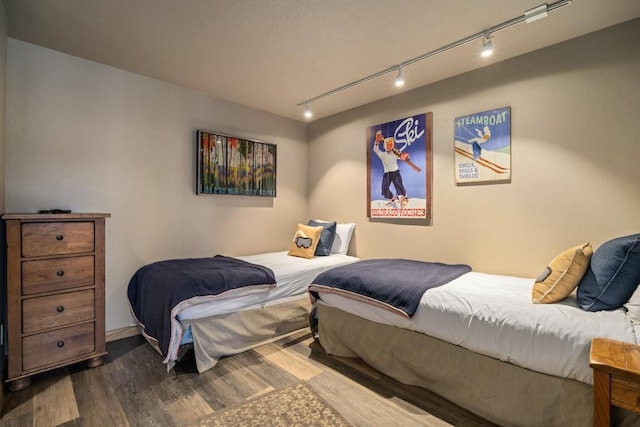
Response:
M454 120L456 184L511 182L511 108Z

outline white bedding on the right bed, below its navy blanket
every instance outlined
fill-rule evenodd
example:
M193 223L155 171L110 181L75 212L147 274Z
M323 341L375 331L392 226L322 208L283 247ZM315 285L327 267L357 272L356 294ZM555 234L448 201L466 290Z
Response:
M591 339L636 343L626 310L586 312L575 297L533 304L535 279L470 272L429 289L412 318L320 292L331 306L439 338L534 371L592 384Z

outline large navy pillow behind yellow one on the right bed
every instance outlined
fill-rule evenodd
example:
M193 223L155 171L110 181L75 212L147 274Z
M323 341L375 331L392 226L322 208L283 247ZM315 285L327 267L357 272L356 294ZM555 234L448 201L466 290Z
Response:
M578 304L586 311L622 307L640 284L640 234L603 243L578 283Z

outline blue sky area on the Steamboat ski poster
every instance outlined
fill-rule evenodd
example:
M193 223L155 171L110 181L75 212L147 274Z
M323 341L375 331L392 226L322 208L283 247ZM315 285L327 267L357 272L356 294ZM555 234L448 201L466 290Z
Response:
M457 117L454 120L455 140L472 144L474 138L481 137L485 126L491 132L491 138L482 145L483 150L510 151L511 146L511 108L503 107Z

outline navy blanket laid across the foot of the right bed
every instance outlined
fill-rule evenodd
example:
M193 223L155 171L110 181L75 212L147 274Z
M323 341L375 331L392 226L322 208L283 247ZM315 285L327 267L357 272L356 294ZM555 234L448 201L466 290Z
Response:
M332 268L318 275L309 291L361 295L394 307L406 316L415 314L426 290L444 285L471 271L464 264L372 259ZM344 291L344 292L342 292Z

